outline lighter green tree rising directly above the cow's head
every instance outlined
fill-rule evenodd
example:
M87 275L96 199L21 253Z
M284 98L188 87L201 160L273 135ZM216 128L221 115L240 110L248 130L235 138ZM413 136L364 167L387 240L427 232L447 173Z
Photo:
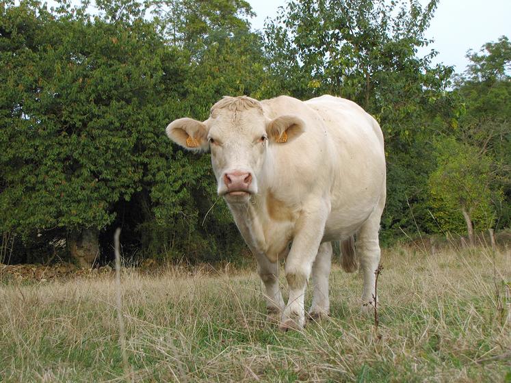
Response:
M196 118L226 95L257 92L263 70L262 42L250 31L253 16L244 0L155 2L153 12L169 44L189 62L186 103Z

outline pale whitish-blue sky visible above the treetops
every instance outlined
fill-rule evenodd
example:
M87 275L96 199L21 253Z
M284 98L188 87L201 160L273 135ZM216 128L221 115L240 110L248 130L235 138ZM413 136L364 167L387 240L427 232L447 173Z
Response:
M254 29L263 29L265 18L274 18L286 0L248 0L257 17ZM428 3L421 0L421 3ZM511 0L440 0L426 38L434 39L419 55L438 51L433 64L454 66L456 72L465 70L469 49L479 51L486 42L496 42L502 35L511 38Z

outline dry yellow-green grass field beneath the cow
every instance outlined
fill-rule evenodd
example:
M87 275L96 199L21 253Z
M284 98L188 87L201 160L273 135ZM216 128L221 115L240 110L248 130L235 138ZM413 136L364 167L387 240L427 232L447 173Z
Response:
M0 285L3 382L511 382L511 254L382 254L380 325L339 266L331 317L265 322L254 272L122 274L129 374L112 276ZM306 301L310 302L308 295Z

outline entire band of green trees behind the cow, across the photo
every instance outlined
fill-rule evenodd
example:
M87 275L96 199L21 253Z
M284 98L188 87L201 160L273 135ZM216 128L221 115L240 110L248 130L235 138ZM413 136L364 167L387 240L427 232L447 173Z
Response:
M291 0L259 34L245 0L2 1L3 237L18 238L18 261L90 233L107 259L117 226L142 257L244 252L209 156L164 135L174 118L205 119L241 94L335 94L380 122L386 241L438 224L461 232L462 202L476 228L508 226L510 42L470 51L452 77L432 65L436 52L417 54L436 5Z

